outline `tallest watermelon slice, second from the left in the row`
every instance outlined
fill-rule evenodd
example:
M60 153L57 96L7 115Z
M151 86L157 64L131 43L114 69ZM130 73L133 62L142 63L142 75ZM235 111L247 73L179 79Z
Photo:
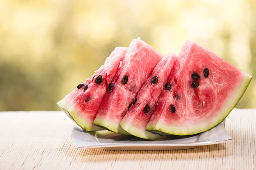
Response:
M161 58L160 53L140 38L133 40L93 123L113 132L128 135L119 123Z

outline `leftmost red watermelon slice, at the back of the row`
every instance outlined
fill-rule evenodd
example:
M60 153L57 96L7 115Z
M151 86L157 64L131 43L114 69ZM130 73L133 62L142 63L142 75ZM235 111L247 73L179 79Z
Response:
M95 72L92 79L87 79L86 82L79 84L74 91L57 103L84 130L103 130L93 125L93 120L108 85L112 82L122 64L126 50L126 47L115 48L110 57L106 59L105 64Z

